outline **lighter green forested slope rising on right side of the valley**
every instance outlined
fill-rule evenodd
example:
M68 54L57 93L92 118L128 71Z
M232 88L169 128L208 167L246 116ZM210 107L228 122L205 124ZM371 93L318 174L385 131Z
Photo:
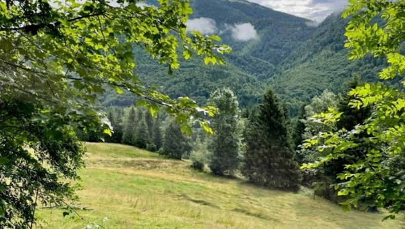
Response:
M280 64L275 76L267 80L282 95L293 115L302 101L308 102L325 89L342 92L353 74L362 80L377 80L377 72L384 66L383 59L366 56L348 60L348 50L344 48L347 22L339 14L330 15L319 24L311 39L296 49Z

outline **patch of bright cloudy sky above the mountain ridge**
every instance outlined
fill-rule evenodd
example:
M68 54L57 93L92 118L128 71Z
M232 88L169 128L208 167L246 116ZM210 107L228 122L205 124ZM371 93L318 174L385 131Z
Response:
M276 11L321 22L328 15L341 11L347 0L248 0Z

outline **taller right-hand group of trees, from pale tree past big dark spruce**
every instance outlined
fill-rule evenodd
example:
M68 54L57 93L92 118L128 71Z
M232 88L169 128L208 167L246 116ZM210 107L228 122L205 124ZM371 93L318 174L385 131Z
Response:
M359 79L354 77L340 95L325 90L309 104L303 104L295 120L291 120L286 104L271 89L264 93L260 104L243 112L232 91L217 90L209 99L209 105L219 110L211 120L214 135L197 141L191 153L192 166L202 170L207 164L217 175L240 173L249 182L294 192L305 185L314 188L316 195L339 203L343 198L331 185L337 183L336 176L345 169L346 159L317 169L300 170L299 165L323 156L315 149L305 148L305 139L319 132L351 130L370 116L370 109L348 105L353 97L347 92L357 85ZM330 107L344 111L339 122L326 125L313 118L315 113L328 112Z

